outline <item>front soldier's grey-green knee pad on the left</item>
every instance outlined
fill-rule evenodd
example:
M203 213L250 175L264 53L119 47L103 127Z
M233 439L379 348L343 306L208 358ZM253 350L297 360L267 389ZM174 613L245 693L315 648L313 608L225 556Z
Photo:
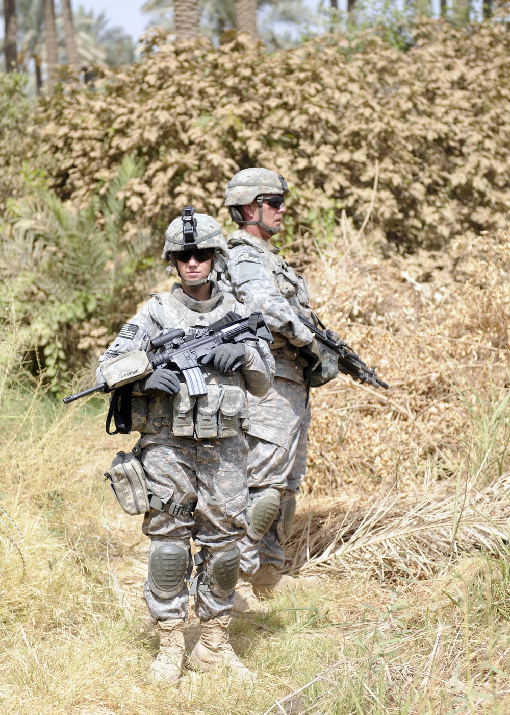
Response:
M153 541L149 553L149 588L159 598L181 591L189 563L189 545L181 541Z

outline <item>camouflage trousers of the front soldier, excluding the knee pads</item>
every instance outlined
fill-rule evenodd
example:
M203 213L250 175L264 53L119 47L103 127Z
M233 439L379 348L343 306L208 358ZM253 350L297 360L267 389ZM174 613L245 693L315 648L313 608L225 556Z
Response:
M234 548L246 533L246 454L243 433L221 440L174 438L169 430L145 435L142 463L147 487L162 501L196 501L190 516L171 516L151 509L146 513L142 531L154 540L168 543L188 542L209 553ZM157 541L156 541L157 540ZM154 621L186 618L189 591L184 581L173 598L160 598L144 585L149 613ZM234 591L226 598L211 593L201 583L195 596L195 613L201 620L228 616L234 603Z

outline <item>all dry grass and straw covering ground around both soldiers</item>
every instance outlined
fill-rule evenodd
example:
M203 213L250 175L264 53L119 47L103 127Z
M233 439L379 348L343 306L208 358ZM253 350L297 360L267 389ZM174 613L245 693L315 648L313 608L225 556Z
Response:
M146 539L102 479L133 440L108 438L94 403L27 391L4 335L2 715L510 712L510 234L377 251L346 224L341 250L307 257L317 312L391 387L314 390L288 552L322 583L233 623L253 691L221 673L147 681Z

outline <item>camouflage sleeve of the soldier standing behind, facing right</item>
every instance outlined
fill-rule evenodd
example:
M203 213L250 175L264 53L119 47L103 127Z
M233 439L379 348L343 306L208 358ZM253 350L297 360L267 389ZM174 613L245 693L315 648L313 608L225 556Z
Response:
M296 347L312 340L314 336L280 294L274 275L254 248L245 245L231 250L229 275L236 299L251 311L260 310L271 332L280 333Z

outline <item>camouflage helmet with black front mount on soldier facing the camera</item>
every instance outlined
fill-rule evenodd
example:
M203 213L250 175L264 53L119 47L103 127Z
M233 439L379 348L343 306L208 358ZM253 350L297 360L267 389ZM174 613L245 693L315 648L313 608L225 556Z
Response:
M221 226L213 217L207 214L197 214L196 209L186 206L182 209L181 215L171 222L165 232L163 260L169 264L166 270L171 270L176 265L176 256L181 251L204 248L214 250L211 272L206 280L194 281L194 286L209 282L211 278L216 278L216 275L224 270L226 259L229 257L229 247L221 232Z

